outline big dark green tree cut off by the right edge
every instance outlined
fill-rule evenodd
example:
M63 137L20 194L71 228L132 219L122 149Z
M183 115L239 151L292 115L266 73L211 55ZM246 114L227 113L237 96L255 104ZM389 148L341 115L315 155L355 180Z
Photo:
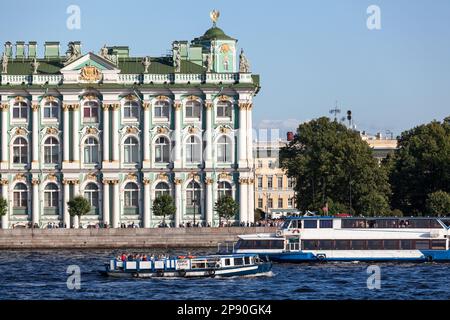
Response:
M450 118L403 132L394 157L392 207L424 214L430 193L450 192Z

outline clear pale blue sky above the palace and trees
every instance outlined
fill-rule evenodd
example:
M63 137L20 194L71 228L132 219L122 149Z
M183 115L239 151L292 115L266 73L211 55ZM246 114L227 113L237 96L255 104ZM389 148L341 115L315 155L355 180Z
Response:
M381 9L381 30L366 27L369 5ZM81 29L66 28L69 5L81 9ZM85 1L2 3L0 41L80 40L83 52L129 45L132 55L166 53L211 25L239 39L262 90L255 127L294 129L329 116L337 100L370 133L395 134L450 115L450 1ZM7 14L5 14L7 13Z

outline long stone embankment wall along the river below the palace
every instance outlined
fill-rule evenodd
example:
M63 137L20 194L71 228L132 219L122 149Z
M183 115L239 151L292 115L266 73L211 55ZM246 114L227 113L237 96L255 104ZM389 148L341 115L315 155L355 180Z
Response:
M0 250L210 248L237 241L238 235L275 232L274 227L155 229L10 229L0 230Z

